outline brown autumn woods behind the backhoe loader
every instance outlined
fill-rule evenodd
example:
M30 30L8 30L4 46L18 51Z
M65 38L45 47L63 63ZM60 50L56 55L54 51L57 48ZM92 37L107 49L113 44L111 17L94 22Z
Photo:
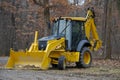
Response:
M120 0L0 0L0 56L29 48L36 30L39 38L49 35L53 17L85 16L88 7L94 7L103 41L103 54L94 57L120 58Z

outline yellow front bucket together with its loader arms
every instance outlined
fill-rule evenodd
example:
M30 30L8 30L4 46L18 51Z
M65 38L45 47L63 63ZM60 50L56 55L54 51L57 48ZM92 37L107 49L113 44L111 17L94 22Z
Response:
M37 41L38 32L35 32L34 42L31 44L31 47L28 51L14 51L10 50L10 57L6 64L7 69L12 68L32 68L32 69L48 69L51 63L50 53L54 51L57 46L65 46L65 39L55 39L50 40L47 43L45 50L38 50L38 41ZM61 50L65 51L65 50ZM61 53L63 54L63 53Z

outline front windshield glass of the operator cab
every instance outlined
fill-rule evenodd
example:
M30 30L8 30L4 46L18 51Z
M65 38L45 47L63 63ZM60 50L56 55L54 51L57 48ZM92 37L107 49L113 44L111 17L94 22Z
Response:
M57 20L53 23L53 35L65 35L66 28L69 26L68 20Z

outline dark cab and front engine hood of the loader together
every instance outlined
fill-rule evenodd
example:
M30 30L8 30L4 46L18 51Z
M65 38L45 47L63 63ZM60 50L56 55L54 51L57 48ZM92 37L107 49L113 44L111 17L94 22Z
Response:
M82 18L80 18L82 19ZM86 39L84 20L58 18L52 23L52 35L39 39L39 50L45 50L47 41L65 38L66 50L76 51L81 40Z

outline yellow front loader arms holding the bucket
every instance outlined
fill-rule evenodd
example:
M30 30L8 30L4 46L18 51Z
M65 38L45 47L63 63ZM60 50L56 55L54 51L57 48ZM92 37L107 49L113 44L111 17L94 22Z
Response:
M38 31L35 32L34 42L32 43L28 52L38 52L39 51L38 50L38 40L37 39L38 39ZM43 56L43 59L41 61L41 69L48 69L49 68L49 65L50 65L50 62L51 62L51 58L49 57L49 55L50 55L51 51L54 51L57 46L59 46L61 44L64 44L64 42L65 42L64 38L49 40L47 42L47 47L43 51L44 56Z

